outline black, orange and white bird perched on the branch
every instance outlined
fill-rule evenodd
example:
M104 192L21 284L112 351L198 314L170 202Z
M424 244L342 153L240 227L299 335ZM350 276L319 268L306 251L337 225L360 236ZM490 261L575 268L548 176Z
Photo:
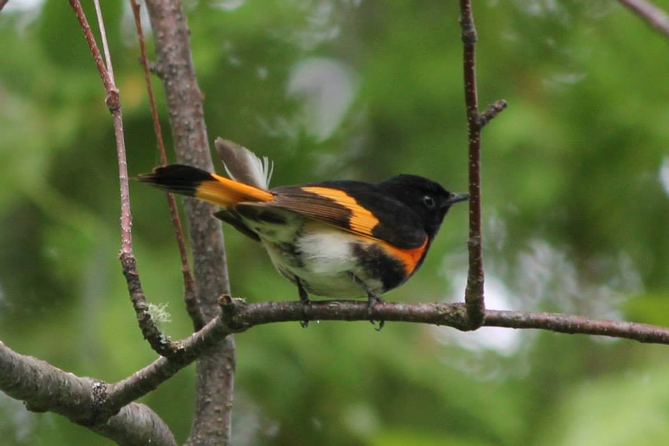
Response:
M416 175L269 189L266 157L222 139L216 146L231 179L183 164L137 179L221 206L214 216L259 241L305 305L308 293L367 295L370 319L380 294L420 267L452 204L469 197Z

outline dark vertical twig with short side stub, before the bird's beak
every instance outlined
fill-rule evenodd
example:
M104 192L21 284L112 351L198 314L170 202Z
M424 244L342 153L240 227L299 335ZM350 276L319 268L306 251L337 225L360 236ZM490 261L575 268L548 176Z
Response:
M465 81L465 103L467 108L469 140L469 272L465 289L465 302L470 328L484 323L484 272L481 243L481 129L506 107L498 100L479 114L476 88L476 40L477 33L470 0L460 0L460 26L463 43L463 71Z

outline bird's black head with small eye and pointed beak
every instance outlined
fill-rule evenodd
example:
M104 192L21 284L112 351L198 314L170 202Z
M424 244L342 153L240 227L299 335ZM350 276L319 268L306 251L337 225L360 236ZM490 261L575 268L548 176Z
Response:
M452 204L465 201L469 194L454 194L432 180L417 175L398 175L378 185L391 197L415 211L432 239Z

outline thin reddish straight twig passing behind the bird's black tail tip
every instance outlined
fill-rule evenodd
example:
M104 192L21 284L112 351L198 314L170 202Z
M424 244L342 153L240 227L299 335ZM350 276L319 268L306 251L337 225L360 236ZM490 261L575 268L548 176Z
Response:
M144 45L144 31L141 29L141 18L139 16L139 3L136 0L130 0L132 6L132 14L134 15L134 26L137 29L137 38L139 40L139 59L141 66L144 68L144 81L146 82L146 90L148 91L148 102L151 107L151 118L153 119L153 132L155 133L156 144L158 146L158 153L160 153L160 162L162 165L167 164L167 154L165 153L165 144L162 140L162 129L160 128L160 120L158 119L157 108L155 107L155 97L153 95L153 86L151 85L151 75L149 74L148 61L146 60L146 46ZM204 317L197 304L197 296L195 295L195 282L190 273L190 266L188 265L188 254L186 246L183 241L183 231L181 229L181 221L179 213L176 208L176 200L174 195L167 193L167 204L169 206L169 214L172 219L172 226L174 226L174 234L176 236L176 243L179 247L179 255L181 258L181 274L183 275L183 299L186 304L186 310L193 321L195 330L199 330L204 325Z

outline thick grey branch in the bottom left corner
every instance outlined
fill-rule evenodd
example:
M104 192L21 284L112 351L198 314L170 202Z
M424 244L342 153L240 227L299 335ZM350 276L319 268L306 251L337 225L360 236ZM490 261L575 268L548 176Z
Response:
M25 401L29 410L59 413L119 445L176 445L167 425L143 404L130 403L112 417L103 415L106 387L20 355L0 342L0 390Z

